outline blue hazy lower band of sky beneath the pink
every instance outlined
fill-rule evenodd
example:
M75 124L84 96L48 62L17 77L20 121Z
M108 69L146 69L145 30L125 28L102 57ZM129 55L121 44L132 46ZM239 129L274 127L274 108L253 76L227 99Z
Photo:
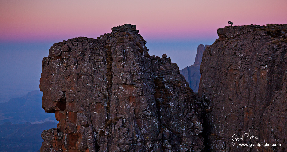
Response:
M167 54L179 69L194 63L199 44L212 44L214 39L189 41L147 41L149 55L162 57ZM59 42L3 43L0 42L0 102L21 97L39 90L42 59L48 56L49 48Z

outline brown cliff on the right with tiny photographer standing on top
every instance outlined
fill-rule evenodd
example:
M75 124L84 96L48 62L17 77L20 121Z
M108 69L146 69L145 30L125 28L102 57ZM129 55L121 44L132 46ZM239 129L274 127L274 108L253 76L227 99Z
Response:
M205 49L199 95L206 109L210 151L287 150L287 25L219 28L219 39ZM258 139L237 141L245 133ZM239 146L280 143L281 146Z

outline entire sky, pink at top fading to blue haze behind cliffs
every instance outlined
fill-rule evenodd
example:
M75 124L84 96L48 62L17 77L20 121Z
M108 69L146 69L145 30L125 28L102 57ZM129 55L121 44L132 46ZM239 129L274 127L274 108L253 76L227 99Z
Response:
M134 24L150 55L167 53L180 69L217 28L287 23L287 0L0 0L1 90L38 90L42 58L53 43L97 38ZM28 86L28 87L27 87Z

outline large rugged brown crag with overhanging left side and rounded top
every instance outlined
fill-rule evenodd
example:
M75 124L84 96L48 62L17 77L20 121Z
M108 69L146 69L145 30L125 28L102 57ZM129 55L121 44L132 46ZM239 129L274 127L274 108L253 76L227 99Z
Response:
M135 25L54 44L42 62L42 106L58 127L41 152L202 151L198 99L170 58L148 55Z

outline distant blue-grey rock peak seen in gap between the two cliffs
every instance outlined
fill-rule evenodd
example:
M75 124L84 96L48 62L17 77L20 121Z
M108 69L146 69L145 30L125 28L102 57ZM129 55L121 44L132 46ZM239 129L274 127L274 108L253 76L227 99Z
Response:
M197 54L195 57L195 62L193 65L189 67L185 67L184 69L180 70L180 74L182 74L185 77L185 80L188 82L189 87L194 91L198 92L198 86L199 86L199 80L200 80L200 63L202 61L202 54L206 47L209 47L210 45L202 45L200 44L197 47Z

